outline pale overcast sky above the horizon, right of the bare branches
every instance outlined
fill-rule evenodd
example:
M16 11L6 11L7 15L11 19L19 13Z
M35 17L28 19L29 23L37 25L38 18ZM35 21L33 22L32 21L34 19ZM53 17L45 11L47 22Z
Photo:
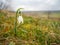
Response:
M24 8L25 11L60 10L60 0L12 0L13 10Z

